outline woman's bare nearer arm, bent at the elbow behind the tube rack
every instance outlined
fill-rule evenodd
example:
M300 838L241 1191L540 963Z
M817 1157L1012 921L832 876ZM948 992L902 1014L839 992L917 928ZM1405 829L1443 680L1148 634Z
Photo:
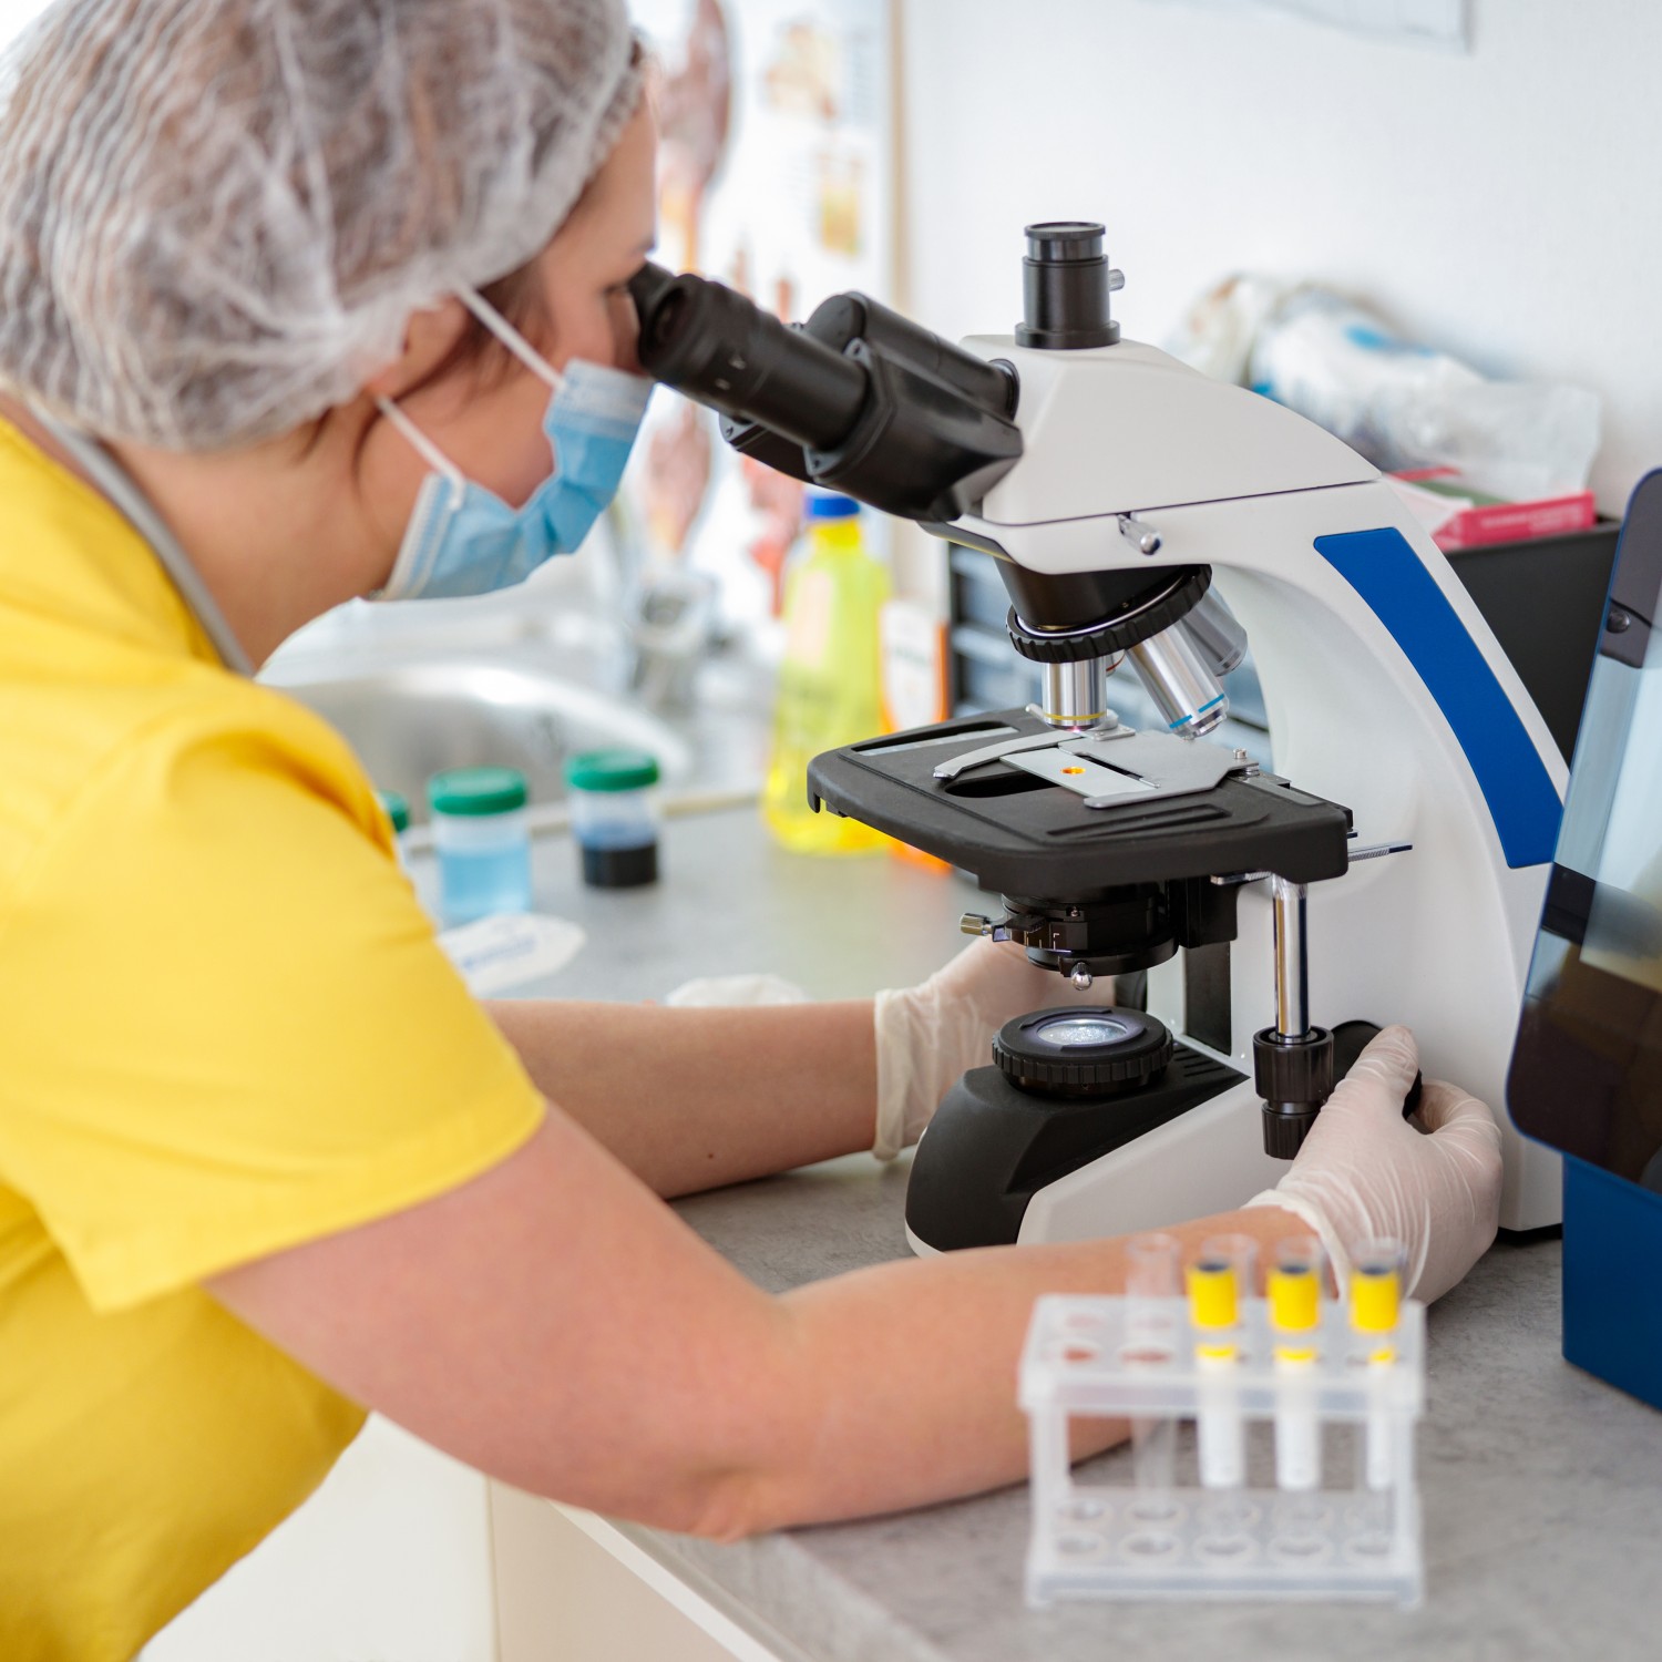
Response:
M1218 1228L1270 1242L1305 1227L1261 1208L1180 1233ZM774 1298L552 1109L484 1177L209 1290L492 1476L733 1539L1022 1476L1032 1301L1120 1280L1120 1243L1092 1242L883 1265ZM1120 1434L1092 1429L1099 1444Z

